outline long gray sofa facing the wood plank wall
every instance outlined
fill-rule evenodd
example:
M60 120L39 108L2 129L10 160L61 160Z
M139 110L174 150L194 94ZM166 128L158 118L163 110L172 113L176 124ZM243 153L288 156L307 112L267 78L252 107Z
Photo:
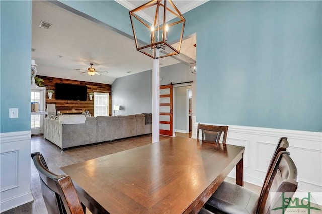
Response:
M56 117L45 118L44 138L64 150L151 132L152 124L144 114L86 117L83 124L61 124Z

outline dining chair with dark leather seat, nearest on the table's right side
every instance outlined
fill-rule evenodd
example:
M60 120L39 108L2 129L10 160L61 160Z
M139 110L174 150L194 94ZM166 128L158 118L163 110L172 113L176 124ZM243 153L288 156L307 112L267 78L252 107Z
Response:
M226 185L228 182L225 182L219 186L199 213L270 213L279 200L282 200L281 194L286 194L285 197L291 198L297 189L297 169L289 152L279 152L273 165L262 198L242 186ZM274 192L276 194L271 200L270 193Z

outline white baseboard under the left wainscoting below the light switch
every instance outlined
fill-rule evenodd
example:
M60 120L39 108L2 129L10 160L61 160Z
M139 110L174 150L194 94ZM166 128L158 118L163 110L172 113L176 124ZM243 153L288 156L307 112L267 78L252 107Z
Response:
M3 200L0 202L0 212L3 213L5 211L13 209L17 206L29 203L33 200L34 200L34 198L31 194L31 192L28 192L28 193L25 193L22 195L17 195L12 198L8 198L7 200Z

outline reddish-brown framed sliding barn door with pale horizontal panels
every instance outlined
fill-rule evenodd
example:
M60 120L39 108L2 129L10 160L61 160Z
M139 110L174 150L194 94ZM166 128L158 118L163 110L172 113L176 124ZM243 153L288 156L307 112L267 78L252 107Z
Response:
M172 85L160 86L160 134L173 135Z

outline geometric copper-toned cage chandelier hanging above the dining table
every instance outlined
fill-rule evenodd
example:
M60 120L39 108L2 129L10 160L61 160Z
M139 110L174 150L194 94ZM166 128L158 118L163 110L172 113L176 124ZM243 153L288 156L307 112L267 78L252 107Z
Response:
M186 20L171 0L145 3L130 18L136 50L153 59L180 53Z

